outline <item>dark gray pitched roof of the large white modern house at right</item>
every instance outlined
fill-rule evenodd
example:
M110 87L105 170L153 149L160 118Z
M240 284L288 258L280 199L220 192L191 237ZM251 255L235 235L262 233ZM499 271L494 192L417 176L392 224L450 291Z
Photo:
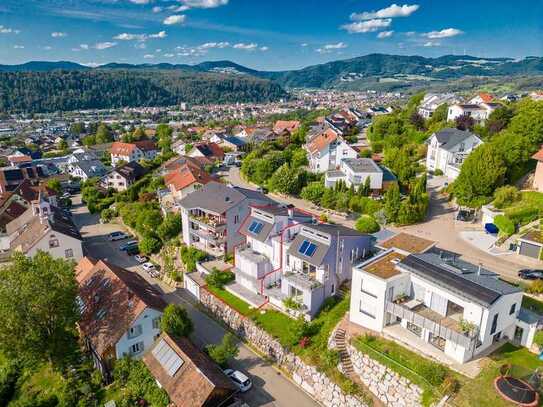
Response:
M459 296L483 306L489 306L502 295L521 292L512 284L500 280L485 268L436 253L411 254L403 259L401 267L433 283L443 286Z

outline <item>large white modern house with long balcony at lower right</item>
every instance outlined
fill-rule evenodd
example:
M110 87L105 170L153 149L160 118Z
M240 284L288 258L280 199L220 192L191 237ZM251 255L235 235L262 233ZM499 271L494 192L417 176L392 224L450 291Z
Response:
M531 346L537 323L522 290L482 266L426 252L386 250L353 269L351 322L450 363L464 363L509 339Z

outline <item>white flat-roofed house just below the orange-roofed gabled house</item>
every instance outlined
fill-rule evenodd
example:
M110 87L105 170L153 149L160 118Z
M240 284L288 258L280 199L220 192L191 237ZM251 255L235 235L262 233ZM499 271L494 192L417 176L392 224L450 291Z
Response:
M358 189L370 179L370 189L374 193L383 190L383 170L371 158L345 158L341 160L338 170L326 171L324 186L332 188L336 182L343 181L347 187Z

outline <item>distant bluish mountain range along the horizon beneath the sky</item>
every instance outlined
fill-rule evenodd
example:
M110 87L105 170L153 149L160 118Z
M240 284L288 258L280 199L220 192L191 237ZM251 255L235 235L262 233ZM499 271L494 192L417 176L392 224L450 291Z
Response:
M52 70L163 70L247 74L270 79L287 88L356 87L368 83L409 83L448 81L464 77L496 77L543 75L543 58L478 58L469 55L445 55L438 58L421 56L369 54L357 58L327 62L290 71L259 71L231 61L186 64L120 64L110 63L89 68L74 62L27 62L22 65L0 65L0 72L46 72Z

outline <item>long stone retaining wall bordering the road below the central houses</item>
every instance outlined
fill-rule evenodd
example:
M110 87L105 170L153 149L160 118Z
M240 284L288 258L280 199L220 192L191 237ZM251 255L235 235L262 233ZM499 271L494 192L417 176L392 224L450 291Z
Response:
M233 329L237 335L250 342L276 365L292 376L293 381L309 393L316 401L326 407L367 407L358 398L346 395L337 384L314 366L307 365L294 353L284 349L281 344L252 320L244 317L209 291L200 291L202 304Z

